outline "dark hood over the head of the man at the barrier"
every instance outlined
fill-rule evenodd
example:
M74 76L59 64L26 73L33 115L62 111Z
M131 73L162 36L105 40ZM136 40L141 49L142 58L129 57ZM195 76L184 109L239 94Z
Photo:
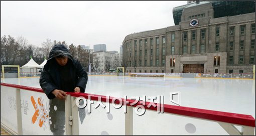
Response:
M53 46L53 48L51 49L50 53L49 53L49 57L48 60L56 57L56 56L67 56L68 58L70 58L71 60L73 59L71 53L69 52L68 48L63 45L63 44L56 44Z

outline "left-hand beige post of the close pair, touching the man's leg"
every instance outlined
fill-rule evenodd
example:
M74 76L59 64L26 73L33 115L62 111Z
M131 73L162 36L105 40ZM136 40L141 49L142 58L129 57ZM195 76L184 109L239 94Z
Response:
M71 96L68 94L65 96L65 127L66 135L72 135L72 112L71 112Z

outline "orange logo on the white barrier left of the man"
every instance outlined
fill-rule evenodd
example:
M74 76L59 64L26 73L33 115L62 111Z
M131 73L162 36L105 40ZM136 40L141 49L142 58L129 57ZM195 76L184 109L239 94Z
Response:
M43 104L43 101L41 100L42 97L39 97L38 98L38 103L36 103L35 99L33 96L31 96L31 102L35 108L35 113L34 115L32 116L32 123L35 123L35 122L38 122L39 126L42 127L44 126L43 128L45 129L46 128L46 122L49 122L50 124L52 123L52 121L50 120L51 117L49 117L49 106L47 106L47 103L46 103L46 106L44 106Z

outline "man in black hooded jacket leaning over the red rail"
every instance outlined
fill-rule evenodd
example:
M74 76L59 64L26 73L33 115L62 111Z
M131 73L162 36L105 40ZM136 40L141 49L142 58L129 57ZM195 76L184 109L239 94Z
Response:
M61 135L65 131L65 92L84 92L87 80L87 72L67 47L54 45L40 76L40 86L50 99L50 129L53 134Z

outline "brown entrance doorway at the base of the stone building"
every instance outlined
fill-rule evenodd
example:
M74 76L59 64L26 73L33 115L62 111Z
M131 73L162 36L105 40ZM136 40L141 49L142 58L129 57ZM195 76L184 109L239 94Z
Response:
M183 64L183 72L204 72L204 64Z

